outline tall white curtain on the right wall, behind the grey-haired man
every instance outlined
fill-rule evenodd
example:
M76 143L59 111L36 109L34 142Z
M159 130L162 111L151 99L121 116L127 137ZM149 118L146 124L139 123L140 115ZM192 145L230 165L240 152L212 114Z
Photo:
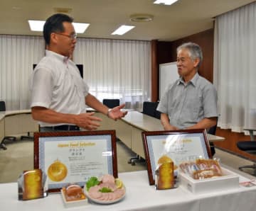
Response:
M256 128L255 2L216 18L213 73L218 126L233 132Z

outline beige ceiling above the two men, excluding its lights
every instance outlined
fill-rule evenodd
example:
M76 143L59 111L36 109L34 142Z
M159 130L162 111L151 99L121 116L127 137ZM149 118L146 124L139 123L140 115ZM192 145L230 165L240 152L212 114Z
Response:
M90 23L79 37L128 40L176 40L213 28L213 18L252 0L179 0L171 6L153 0L1 0L0 34L41 35L31 32L28 19L46 20L56 8L69 8L75 22ZM147 13L154 20L132 22L129 17ZM119 25L135 25L125 35L111 35Z

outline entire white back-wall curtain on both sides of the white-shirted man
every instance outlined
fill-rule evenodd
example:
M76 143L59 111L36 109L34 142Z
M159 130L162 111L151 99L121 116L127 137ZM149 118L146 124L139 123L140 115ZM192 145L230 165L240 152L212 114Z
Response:
M0 99L7 110L28 109L28 80L44 55L43 37L0 35L0 55ZM141 109L150 100L150 42L78 38L73 58L100 101L120 98L126 108Z

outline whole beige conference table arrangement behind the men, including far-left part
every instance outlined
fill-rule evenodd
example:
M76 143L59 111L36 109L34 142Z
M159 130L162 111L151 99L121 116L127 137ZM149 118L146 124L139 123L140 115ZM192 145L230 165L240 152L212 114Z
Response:
M136 110L128 110L127 115L117 121L107 118L102 113L96 112L95 116L102 118L101 125L97 130L115 130L117 137L142 158L145 157L142 132L164 130L159 119ZM6 136L20 135L26 132L38 132L38 123L32 119L31 110L0 112L0 140ZM208 140L218 142L223 141L224 138L208 134Z

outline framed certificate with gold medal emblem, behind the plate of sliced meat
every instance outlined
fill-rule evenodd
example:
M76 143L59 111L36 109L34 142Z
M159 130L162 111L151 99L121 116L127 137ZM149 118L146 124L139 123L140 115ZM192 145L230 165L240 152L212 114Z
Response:
M48 176L49 192L68 183L85 186L92 176L117 178L115 131L36 132L34 168Z

